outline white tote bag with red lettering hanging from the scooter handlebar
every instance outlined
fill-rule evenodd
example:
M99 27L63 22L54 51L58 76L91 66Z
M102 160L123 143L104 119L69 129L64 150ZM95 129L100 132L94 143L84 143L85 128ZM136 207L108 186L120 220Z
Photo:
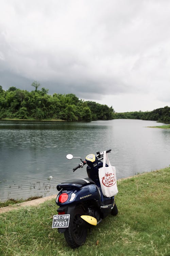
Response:
M106 161L108 167L106 167ZM99 168L99 180L105 197L113 197L118 193L116 182L116 168L111 166L106 151L103 155L103 167Z

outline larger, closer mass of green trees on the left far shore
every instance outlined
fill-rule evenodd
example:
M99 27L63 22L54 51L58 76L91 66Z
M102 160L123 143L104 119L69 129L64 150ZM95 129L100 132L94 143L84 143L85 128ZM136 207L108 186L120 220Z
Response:
M94 101L79 100L74 94L48 94L48 89L17 89L12 86L3 90L0 86L0 119L62 119L67 121L91 121L114 119L114 109Z

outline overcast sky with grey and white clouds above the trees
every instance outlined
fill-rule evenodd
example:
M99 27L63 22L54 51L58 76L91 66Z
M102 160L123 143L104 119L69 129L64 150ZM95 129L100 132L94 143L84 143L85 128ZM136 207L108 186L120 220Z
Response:
M170 106L169 0L1 0L0 85L113 106Z

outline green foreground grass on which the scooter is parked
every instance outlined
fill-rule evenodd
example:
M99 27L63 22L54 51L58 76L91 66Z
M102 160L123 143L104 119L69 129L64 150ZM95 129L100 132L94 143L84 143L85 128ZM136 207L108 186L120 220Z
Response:
M107 216L72 250L52 229L55 200L0 215L0 255L169 256L170 167L118 182L119 213Z

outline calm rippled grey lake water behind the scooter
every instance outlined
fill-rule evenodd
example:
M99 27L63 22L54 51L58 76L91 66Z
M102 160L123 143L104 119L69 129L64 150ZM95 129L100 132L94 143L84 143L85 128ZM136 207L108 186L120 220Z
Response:
M87 177L74 173L81 157L112 149L109 159L117 179L170 164L170 130L147 128L155 121L114 119L95 122L0 120L0 200L49 196L56 185ZM53 178L50 179L49 177Z

